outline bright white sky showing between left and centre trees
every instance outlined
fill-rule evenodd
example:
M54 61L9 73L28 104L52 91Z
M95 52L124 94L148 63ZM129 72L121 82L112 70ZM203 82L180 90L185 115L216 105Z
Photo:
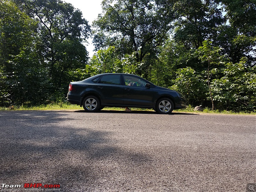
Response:
M101 1L102 0L63 0L66 3L71 3L76 9L80 9L83 12L83 17L92 25L92 21L97 19L98 14L101 13ZM88 39L88 45L86 50L89 52L89 57L93 56L94 45L92 39Z

